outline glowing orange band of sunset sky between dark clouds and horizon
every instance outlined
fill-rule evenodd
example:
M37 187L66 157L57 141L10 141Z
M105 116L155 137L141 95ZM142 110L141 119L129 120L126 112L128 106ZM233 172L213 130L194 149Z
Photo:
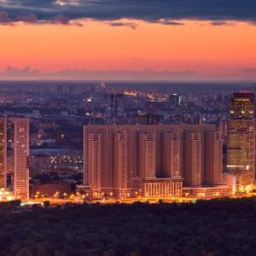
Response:
M129 79L130 70L143 79L150 70L152 79L256 79L253 23L77 22L0 25L0 78Z

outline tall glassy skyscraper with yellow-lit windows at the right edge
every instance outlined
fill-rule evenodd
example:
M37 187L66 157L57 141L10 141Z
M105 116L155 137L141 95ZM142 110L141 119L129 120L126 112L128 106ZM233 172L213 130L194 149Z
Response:
M254 182L254 94L237 92L231 98L227 137L227 172L236 176L236 189L250 190Z

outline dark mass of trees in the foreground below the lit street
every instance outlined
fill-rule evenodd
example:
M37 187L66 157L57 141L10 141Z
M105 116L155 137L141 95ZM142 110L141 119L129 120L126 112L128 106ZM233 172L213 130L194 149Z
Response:
M256 199L196 204L0 205L0 255L256 255Z

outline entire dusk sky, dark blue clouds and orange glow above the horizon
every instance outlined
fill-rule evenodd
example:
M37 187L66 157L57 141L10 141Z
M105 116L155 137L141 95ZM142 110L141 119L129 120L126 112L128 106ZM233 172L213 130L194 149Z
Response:
M249 0L0 0L0 79L254 80L255 20Z

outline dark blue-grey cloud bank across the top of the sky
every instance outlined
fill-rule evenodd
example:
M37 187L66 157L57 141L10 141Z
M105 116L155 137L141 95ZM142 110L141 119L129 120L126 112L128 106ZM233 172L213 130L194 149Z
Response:
M70 24L71 20L145 20L181 25L177 20L256 22L253 0L0 0L0 22ZM62 19L60 19L62 17ZM217 22L217 23L216 23ZM111 25L111 23L110 23ZM112 25L113 26L113 25Z

